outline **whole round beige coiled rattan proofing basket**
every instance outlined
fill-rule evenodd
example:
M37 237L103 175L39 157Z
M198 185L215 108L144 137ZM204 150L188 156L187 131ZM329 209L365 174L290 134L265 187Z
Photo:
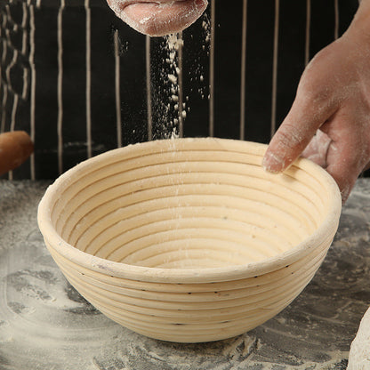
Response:
M151 141L64 173L38 224L68 281L119 324L173 342L229 338L283 310L326 256L341 213L334 180L266 146Z

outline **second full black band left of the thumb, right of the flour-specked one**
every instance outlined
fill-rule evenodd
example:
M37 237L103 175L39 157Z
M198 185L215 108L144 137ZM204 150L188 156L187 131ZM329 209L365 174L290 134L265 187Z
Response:
M243 1L216 1L214 51L214 134L238 139Z

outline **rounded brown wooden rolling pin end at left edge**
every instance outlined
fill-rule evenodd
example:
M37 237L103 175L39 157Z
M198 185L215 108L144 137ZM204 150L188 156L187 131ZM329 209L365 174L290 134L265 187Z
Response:
M25 162L34 151L34 144L28 133L12 131L0 134L0 175Z

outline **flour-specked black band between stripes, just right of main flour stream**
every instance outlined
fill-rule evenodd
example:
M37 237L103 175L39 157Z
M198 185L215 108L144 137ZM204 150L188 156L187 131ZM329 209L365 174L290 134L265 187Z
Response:
M184 136L206 137L209 135L210 6L183 32L183 39Z

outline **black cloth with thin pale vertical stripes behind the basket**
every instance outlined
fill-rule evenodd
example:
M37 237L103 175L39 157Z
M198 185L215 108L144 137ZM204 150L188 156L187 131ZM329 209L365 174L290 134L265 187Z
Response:
M239 138L243 1L215 1L214 135ZM245 54L245 140L269 142L275 0L249 0ZM305 67L306 1L280 0L277 62L277 126L294 101ZM348 28L357 0L339 0L339 35ZM40 6L38 6L40 5ZM30 7L33 7L34 18ZM334 41L334 0L310 0L310 58ZM146 37L118 20L105 0L91 0L91 96L93 155L117 148L114 35L120 40L122 144L148 140L145 72ZM0 0L0 129L31 130L31 52L34 52L35 174L55 178L58 169L59 0ZM184 136L209 135L210 6L183 32ZM62 12L63 168L87 157L86 10L83 0L67 0ZM34 32L34 33L33 33ZM32 37L35 44L32 45ZM32 49L33 48L33 49ZM165 38L151 41L154 139L167 137L176 117L165 109L171 85ZM35 82L35 81L34 81ZM16 104L15 102L18 103ZM29 162L12 173L30 178ZM6 177L6 176L5 176Z

